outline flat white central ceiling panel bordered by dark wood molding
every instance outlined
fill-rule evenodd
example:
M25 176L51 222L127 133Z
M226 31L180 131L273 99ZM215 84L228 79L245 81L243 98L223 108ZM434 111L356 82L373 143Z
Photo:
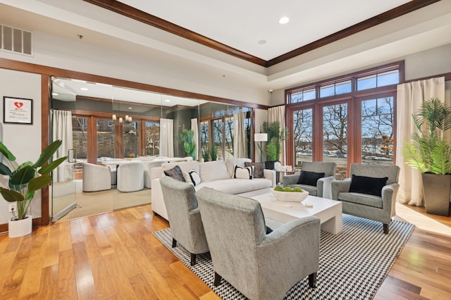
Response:
M119 1L265 61L409 2ZM278 20L284 16L290 18L290 22L280 25Z

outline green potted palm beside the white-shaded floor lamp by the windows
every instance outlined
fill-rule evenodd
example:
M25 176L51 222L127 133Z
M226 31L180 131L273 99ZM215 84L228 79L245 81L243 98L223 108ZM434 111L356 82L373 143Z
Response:
M263 132L268 134L268 144L266 144L265 155L266 162L265 168L273 170L274 163L278 161L280 157L280 146L288 136L288 128L284 127L280 130L280 123L275 121L273 123L264 122L262 125Z

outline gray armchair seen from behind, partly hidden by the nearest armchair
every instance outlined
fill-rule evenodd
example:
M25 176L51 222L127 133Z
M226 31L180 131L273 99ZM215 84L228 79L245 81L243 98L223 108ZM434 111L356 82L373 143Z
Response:
M184 246L191 253L191 265L195 265L196 254L208 252L209 246L194 187L169 176L161 177L160 183L171 226L172 246L177 246L177 242Z

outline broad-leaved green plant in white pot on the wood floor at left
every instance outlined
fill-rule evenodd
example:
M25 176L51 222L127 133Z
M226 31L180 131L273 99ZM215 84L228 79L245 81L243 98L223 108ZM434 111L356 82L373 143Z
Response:
M0 142L0 152L7 161L7 165L3 161L0 162L0 173L9 177L8 188L0 187L0 193L6 201L16 202L17 204L17 212L13 211L13 218L8 222L10 237L20 237L31 233L32 217L27 213L33 196L35 196L37 190L49 185L51 171L67 158L67 156L64 156L45 165L59 146L61 146L61 140L47 146L36 163L25 161L25 163L18 165L16 156Z

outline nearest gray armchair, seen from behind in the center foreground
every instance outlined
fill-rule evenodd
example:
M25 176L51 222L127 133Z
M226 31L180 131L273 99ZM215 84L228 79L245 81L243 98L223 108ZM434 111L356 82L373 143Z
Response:
M257 200L208 187L197 199L214 267L214 285L221 278L249 299L283 299L309 276L316 284L319 269L319 218L281 224L264 218ZM266 234L266 225L273 232Z

